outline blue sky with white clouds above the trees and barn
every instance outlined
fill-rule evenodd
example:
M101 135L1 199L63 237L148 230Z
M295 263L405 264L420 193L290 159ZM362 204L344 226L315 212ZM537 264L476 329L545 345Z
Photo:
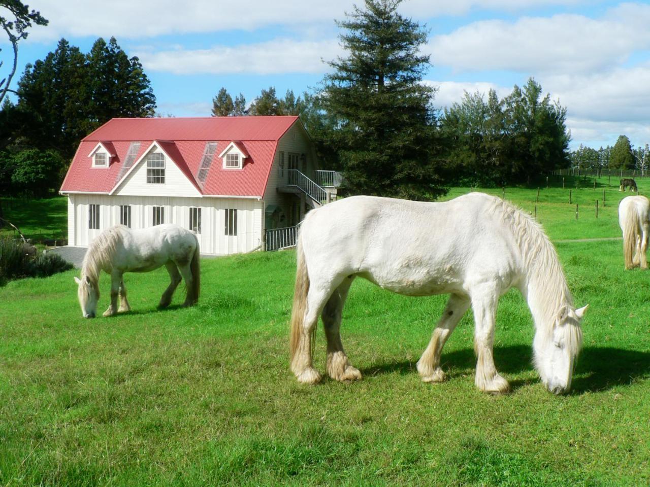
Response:
M27 0L50 23L20 44L19 74L61 37L87 52L115 36L138 56L163 115L208 116L224 86L250 103L274 86L299 95L318 86L345 55L334 19L348 0ZM500 97L529 77L567 108L571 147L613 145L620 134L650 143L650 5L599 0L405 0L399 8L426 24L439 108L463 90ZM0 58L10 46L0 42ZM8 63L7 63L8 64ZM7 66L5 64L5 67ZM6 68L1 68L4 73ZM14 79L14 88L19 74Z

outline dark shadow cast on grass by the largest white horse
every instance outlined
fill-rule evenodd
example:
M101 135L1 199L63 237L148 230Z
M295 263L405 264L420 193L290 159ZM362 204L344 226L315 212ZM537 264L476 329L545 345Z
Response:
M530 347L524 345L495 347L494 355L500 373L516 374L534 369ZM417 373L416 362L374 364L361 369L361 373L365 376ZM443 351L441 366L450 379L463 374L473 374L476 366L474 351L472 349L461 349L450 353ZM613 347L587 347L578 357L572 390L574 394L599 392L616 386L629 385L647 377L650 377L650 353ZM538 380L537 378L511 379L510 386L512 390L517 390Z

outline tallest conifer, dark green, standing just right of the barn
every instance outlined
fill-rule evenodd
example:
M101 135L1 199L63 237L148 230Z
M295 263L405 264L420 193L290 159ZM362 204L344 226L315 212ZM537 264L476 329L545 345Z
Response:
M398 14L400 3L365 0L337 21L348 56L329 63L319 99L352 192L430 199L445 190L432 154L435 90L422 84L427 32Z

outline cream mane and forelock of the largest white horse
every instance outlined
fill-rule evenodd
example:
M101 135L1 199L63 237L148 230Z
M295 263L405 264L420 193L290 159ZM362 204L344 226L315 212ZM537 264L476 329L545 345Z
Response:
M533 316L536 327L550 336L558 320L573 308L573 297L555 247L543 227L521 208L495 197L493 211L507 225L521 252L527 271L526 284L541 316ZM582 344L580 327L567 327L565 346L577 355Z

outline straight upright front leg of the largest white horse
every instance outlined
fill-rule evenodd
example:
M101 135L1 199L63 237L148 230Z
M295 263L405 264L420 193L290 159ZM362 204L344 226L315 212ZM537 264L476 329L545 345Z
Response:
M504 393L508 381L497 372L493 358L494 328L499 292L496 286L480 286L471 294L474 310L474 352L476 353L476 387L484 392Z

